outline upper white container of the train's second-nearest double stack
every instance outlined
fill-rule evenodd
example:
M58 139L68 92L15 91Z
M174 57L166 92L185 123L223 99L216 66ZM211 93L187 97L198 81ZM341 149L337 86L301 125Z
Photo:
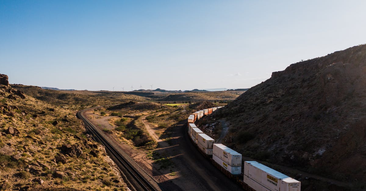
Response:
M213 154L231 166L242 165L242 154L223 144L213 144Z

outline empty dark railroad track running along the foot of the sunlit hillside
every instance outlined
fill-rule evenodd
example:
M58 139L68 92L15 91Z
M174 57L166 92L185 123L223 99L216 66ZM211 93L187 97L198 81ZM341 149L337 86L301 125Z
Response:
M132 186L135 187L136 190L143 190L146 191L157 191L150 183L147 181L118 151L115 147L113 147L112 144L110 144L107 139L102 136L97 129L94 127L93 124L90 123L89 120L87 120L82 113L85 112L87 109L84 109L82 111L79 111L76 113L76 117L84 121L85 127L87 130L93 134L94 139L99 140L102 145L104 145L105 149L109 151L109 153L112 154L113 158L115 158L115 162L120 164L117 165L122 172L127 172L130 177L132 177L135 181L134 183L131 183ZM130 181L131 182L131 181ZM135 185L138 184L138 185ZM141 187L141 188L140 188Z

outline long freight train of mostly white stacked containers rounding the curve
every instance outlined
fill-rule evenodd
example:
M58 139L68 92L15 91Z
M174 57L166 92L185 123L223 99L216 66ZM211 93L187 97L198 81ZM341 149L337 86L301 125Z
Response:
M300 191L301 182L257 161L244 161L242 154L204 134L194 123L222 107L203 109L188 117L187 133L198 150L226 176L234 179L247 191Z

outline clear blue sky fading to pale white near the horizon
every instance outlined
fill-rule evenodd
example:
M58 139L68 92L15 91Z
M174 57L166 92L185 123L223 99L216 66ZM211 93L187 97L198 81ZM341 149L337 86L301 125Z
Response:
M78 90L248 88L366 43L366 1L0 1L0 73Z

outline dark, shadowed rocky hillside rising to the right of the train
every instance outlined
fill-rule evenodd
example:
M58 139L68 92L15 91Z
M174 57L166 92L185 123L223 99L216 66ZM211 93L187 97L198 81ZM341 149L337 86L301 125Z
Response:
M273 72L205 123L226 120L224 144L244 156L365 183L365 113L366 45L359 45Z

